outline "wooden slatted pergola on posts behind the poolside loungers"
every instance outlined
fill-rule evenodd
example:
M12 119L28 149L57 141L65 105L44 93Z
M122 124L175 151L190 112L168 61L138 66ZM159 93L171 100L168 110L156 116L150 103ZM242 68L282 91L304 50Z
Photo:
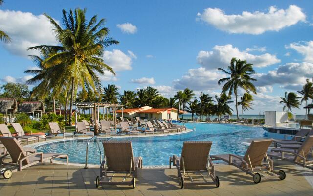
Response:
M77 113L79 109L88 109L91 114L91 118L94 122L96 122L99 119L100 115L100 109L103 109L103 119L105 117L104 114L106 114L106 120L108 120L108 113L109 109L113 109L113 119L114 119L114 131L116 131L116 108L121 107L123 111L124 105L121 104L109 104L109 103L102 103L102 102L75 102L73 105L76 106L76 112L75 112L75 128L77 128ZM122 112L122 118L124 117L124 114ZM94 132L95 135L98 135L98 124L94 123Z

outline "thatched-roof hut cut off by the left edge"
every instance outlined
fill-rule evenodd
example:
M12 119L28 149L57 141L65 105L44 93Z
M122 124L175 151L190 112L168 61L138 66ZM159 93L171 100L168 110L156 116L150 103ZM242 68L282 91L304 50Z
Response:
M14 118L15 112L18 110L18 103L15 98L0 98L0 113L5 115L5 123L9 115L9 123L11 123L11 115Z

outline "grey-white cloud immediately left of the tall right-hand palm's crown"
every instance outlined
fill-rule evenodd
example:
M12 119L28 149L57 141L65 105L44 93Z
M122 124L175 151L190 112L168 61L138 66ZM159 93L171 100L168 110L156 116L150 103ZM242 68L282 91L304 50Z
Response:
M192 90L215 90L218 87L218 80L225 77L215 71L206 70L203 67L189 69L187 74L180 79L173 81L175 89L185 89L186 87Z

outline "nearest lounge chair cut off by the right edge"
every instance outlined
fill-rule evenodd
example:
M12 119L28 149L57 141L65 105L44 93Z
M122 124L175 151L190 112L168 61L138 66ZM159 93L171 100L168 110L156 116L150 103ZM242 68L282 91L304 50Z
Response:
M273 158L286 160L303 167L312 169L313 172L313 136L309 135L298 149L274 148L267 155ZM311 154L311 156L309 156Z

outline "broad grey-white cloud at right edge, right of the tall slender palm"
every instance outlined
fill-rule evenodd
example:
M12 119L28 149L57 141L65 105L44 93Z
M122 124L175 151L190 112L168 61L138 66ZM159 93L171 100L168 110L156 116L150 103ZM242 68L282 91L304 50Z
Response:
M277 70L268 71L268 73L259 73L254 78L256 86L267 86L280 84L281 88L299 89L305 84L307 78L313 75L312 63L286 63L277 68ZM301 88L301 87L300 87Z

